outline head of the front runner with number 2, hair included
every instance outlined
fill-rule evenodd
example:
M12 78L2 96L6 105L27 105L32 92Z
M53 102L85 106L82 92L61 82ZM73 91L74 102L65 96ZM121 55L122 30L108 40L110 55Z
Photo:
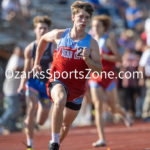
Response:
M71 6L72 21L77 28L85 28L93 14L93 7L88 2L75 1Z

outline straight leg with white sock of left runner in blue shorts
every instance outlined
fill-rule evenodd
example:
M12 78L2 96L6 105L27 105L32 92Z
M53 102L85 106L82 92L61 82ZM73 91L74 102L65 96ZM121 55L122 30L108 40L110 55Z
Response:
M37 94L33 93L26 96L27 110L26 118L24 120L25 124L25 134L27 138L27 145L33 146L33 132L34 132L34 114L36 111L38 99Z

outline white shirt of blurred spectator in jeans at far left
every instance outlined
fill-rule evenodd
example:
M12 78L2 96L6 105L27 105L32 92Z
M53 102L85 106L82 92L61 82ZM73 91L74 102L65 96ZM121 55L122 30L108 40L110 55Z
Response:
M23 68L24 59L19 58L16 55L12 55L8 61L5 71L5 81L3 84L3 92L6 96L14 96L17 95L17 89L20 84L20 78L15 79L14 69L19 67ZM10 74L9 74L10 73ZM7 75L6 75L7 74Z

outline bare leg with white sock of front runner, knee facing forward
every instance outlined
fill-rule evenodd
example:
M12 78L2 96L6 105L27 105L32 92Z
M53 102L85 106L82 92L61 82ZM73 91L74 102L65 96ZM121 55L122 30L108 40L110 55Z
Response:
M51 97L54 101L52 110L52 143L59 144L59 133L63 121L63 110L67 101L67 93L65 87L61 83L57 83L51 89Z

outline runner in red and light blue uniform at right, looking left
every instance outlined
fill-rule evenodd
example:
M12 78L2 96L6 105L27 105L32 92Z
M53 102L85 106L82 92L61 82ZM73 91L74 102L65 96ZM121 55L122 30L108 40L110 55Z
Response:
M94 147L105 146L102 106L104 93L107 95L107 104L113 114L119 113L127 125L130 125L129 119L126 118L125 111L120 107L117 94L117 83L115 76L115 63L121 61L121 56L116 46L115 40L108 34L111 25L111 19L107 15L95 16L92 19L93 37L98 41L101 62L103 65L102 76L96 79L91 76L89 80L91 98L95 107L95 121L99 140L93 143ZM114 74L109 77L109 73Z

